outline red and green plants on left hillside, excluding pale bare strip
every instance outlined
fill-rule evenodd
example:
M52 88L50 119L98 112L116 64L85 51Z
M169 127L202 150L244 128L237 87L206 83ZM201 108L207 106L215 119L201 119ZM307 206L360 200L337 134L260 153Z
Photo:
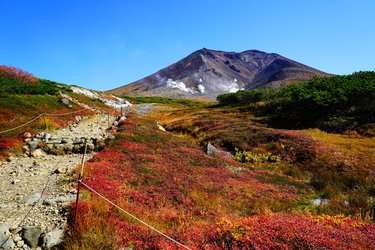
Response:
M67 85L39 79L32 74L10 66L0 66L0 130L5 131L24 124L41 113L61 114L82 109L75 103L64 105L59 92L71 92ZM79 115L90 114L89 111ZM0 160L21 153L22 134L25 131L53 130L74 121L74 115L42 117L26 127L0 134Z

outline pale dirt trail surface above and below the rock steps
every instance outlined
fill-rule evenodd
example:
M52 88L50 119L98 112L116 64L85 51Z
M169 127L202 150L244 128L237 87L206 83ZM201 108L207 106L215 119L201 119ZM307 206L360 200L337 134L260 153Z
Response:
M112 121L113 119L111 117ZM106 134L107 127L108 116L95 115L71 128L50 134L53 137L71 138L103 135ZM88 154L86 160L93 155L94 153ZM72 171L80 164L81 159L82 154L45 154L38 158L17 157L0 162L0 225L5 224L10 228L10 238L14 239L15 249L28 249L26 245L17 247L16 240L22 227L40 227L45 233L65 227L67 205L76 197L76 190L71 182Z

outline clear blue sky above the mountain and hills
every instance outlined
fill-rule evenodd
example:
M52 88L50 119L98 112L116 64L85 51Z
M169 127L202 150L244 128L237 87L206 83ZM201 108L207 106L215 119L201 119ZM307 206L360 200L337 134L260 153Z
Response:
M373 0L0 0L0 65L108 90L203 47L374 70Z

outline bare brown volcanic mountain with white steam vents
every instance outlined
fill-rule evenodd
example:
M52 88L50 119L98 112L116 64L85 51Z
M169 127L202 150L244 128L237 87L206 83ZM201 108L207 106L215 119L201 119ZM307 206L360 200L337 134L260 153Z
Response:
M189 98L259 87L277 88L326 73L275 53L203 48L158 72L109 90L117 95Z

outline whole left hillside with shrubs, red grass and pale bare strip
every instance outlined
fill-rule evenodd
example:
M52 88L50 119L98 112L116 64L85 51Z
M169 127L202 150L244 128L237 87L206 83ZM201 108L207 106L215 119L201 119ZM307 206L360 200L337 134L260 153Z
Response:
M26 131L35 134L66 127L79 117L95 112L112 113L130 105L108 93L40 79L15 67L0 66L0 160L22 153L22 135Z

